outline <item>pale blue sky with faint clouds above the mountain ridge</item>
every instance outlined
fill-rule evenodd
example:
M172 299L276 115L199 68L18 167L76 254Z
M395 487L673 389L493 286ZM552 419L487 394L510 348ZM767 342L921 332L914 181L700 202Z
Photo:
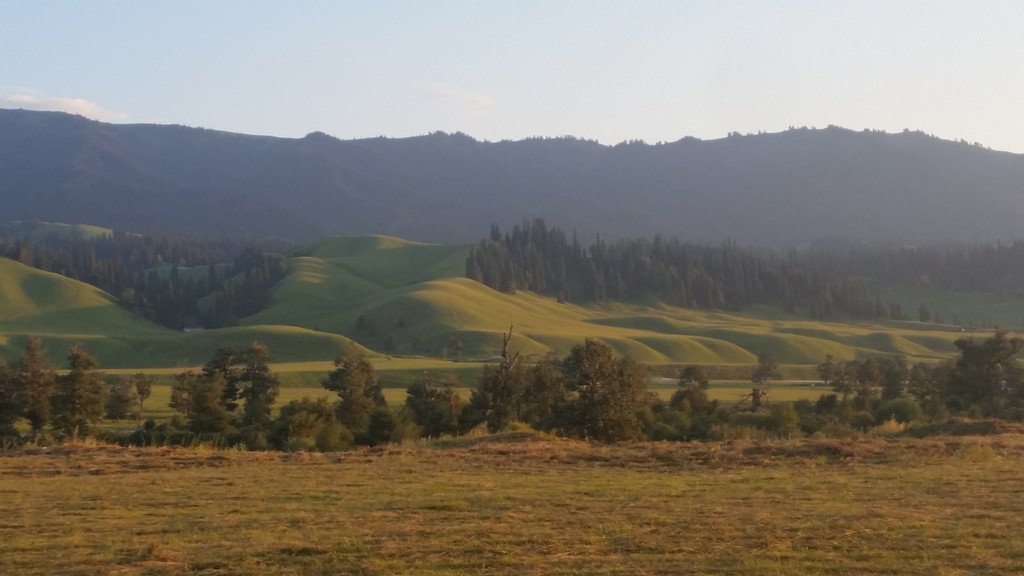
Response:
M1024 153L1018 0L0 0L0 108L349 139L838 125Z

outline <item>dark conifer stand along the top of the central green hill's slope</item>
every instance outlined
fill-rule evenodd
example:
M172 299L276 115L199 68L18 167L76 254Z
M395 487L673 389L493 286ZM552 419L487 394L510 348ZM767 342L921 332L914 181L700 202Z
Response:
M496 290L530 290L571 302L657 298L666 303L740 311L778 305L815 319L904 319L898 302L872 296L850 276L824 272L791 254L665 239L575 237L534 219L503 234L493 225L466 260L466 277Z

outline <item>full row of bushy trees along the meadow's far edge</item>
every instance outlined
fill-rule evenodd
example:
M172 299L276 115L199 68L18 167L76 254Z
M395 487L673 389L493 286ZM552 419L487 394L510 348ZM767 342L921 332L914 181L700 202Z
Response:
M219 348L201 370L174 377L174 417L147 420L117 439L334 451L484 428L525 427L597 442L693 441L854 435L951 415L1024 420L1024 369L1016 359L1024 340L1002 331L980 341L962 338L958 356L937 364L909 366L902 356L845 362L827 356L817 370L829 392L815 402L772 402L771 381L780 372L771 355L759 357L751 393L735 403L710 399L710 378L696 365L680 370L677 389L663 400L648 389L648 367L616 357L600 340L587 339L564 358L549 355L527 364L508 349L510 339L511 331L501 361L484 366L468 399L454 379L424 372L399 406L388 405L368 359L342 354L321 382L333 401L304 398L275 409L280 381L266 346ZM152 385L144 374L105 381L77 345L58 375L39 340L30 338L17 362L0 365L0 439L6 446L73 439L94 433L104 417L140 420Z

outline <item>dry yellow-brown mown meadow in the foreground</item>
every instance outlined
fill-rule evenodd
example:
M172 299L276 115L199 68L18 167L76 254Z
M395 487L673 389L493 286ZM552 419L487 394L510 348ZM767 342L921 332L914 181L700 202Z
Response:
M11 451L0 573L1022 573L1022 458L1018 435Z

